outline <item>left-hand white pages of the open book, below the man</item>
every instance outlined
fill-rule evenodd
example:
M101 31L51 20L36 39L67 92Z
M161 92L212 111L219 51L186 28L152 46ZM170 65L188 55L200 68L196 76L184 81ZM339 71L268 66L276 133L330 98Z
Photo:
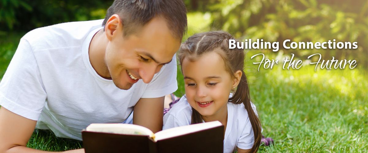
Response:
M134 125L134 124L122 124L122 123L110 123L110 124L91 124L86 128L86 131L92 132L106 132L115 134L128 134L128 135L148 135L153 137L153 132L148 128Z

